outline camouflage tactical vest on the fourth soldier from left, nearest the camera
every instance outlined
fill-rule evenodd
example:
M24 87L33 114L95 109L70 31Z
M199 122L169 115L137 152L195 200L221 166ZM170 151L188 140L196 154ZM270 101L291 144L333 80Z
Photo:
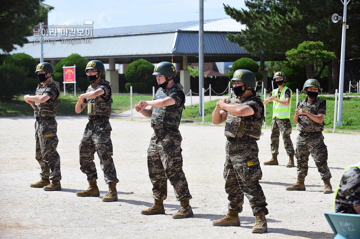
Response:
M264 120L264 104L258 96L250 96L246 98L232 97L229 104L244 106L248 100L255 99L260 105L262 105L262 117L258 120L250 120L248 116L236 116L228 112L226 116L225 124L225 136L233 138L242 138L243 135L248 135L260 139L262 121Z

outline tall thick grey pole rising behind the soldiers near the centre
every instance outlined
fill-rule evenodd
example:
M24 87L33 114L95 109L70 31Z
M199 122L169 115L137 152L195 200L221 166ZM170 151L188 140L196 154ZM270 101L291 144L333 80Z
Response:
M199 117L202 116L204 88L204 0L199 0Z

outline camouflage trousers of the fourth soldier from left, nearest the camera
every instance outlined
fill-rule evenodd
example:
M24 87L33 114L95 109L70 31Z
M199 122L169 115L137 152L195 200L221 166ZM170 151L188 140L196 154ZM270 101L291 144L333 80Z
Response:
M228 194L228 208L242 212L244 193L249 199L252 212L266 214L267 203L259 184L262 171L258 159L258 147L255 140L226 141L226 161L224 169L225 191Z

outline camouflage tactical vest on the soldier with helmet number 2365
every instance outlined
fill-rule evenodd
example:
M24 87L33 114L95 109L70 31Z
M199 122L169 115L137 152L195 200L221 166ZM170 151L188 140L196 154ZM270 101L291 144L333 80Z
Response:
M320 99L319 97L317 97L316 100L312 102L306 102L306 100L302 100L300 101L298 108L309 111L313 115L318 115L319 105L323 101L324 100ZM321 132L324 130L324 125L324 121L323 123L319 124L310 119L307 115L299 115L299 131Z

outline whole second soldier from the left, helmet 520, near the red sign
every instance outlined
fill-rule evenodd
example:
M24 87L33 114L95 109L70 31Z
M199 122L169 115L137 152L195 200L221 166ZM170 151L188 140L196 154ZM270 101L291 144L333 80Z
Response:
M108 194L103 197L104 202L117 201L116 169L113 155L113 146L110 138L111 125L109 122L111 114L112 93L108 81L101 78L105 73L104 64L98 60L87 63L85 72L90 81L86 93L78 97L75 111L80 113L87 106L89 123L87 123L79 145L80 169L87 175L89 188L77 192L79 197L99 197L100 192L96 184L98 174L94 163L94 153L98 153L101 169L104 171L105 183L109 185Z

